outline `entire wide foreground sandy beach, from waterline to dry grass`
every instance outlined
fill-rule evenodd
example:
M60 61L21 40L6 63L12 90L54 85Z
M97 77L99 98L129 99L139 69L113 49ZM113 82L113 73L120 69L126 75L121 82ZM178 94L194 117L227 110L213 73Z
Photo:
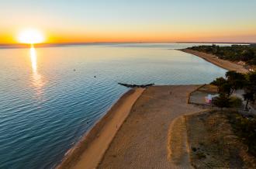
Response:
M188 104L199 86L126 92L57 168L191 168L180 117L202 110Z

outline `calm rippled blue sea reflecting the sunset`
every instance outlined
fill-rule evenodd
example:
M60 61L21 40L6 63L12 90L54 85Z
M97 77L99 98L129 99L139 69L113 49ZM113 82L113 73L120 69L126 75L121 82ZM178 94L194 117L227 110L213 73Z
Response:
M225 70L178 50L114 43L0 50L0 168L53 168L128 89L205 84Z

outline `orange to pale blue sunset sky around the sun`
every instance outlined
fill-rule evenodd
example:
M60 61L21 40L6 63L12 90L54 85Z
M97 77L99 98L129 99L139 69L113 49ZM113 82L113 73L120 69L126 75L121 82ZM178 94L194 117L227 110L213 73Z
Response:
M256 42L255 0L0 0L0 43Z

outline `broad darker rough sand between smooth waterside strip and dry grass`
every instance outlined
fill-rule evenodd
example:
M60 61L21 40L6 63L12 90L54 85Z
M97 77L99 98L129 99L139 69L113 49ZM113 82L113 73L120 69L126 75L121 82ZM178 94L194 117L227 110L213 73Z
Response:
M168 131L176 117L201 110L187 104L187 96L195 88L198 85L147 88L116 133L99 168L189 168L188 161L174 164L168 159Z

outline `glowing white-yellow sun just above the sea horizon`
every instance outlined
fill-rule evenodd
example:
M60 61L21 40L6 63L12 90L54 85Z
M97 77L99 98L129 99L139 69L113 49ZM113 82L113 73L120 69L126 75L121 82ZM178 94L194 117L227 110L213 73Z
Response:
M37 29L22 30L18 36L19 43L29 43L29 44L43 43L44 40L45 38L43 36L43 33L41 33Z

